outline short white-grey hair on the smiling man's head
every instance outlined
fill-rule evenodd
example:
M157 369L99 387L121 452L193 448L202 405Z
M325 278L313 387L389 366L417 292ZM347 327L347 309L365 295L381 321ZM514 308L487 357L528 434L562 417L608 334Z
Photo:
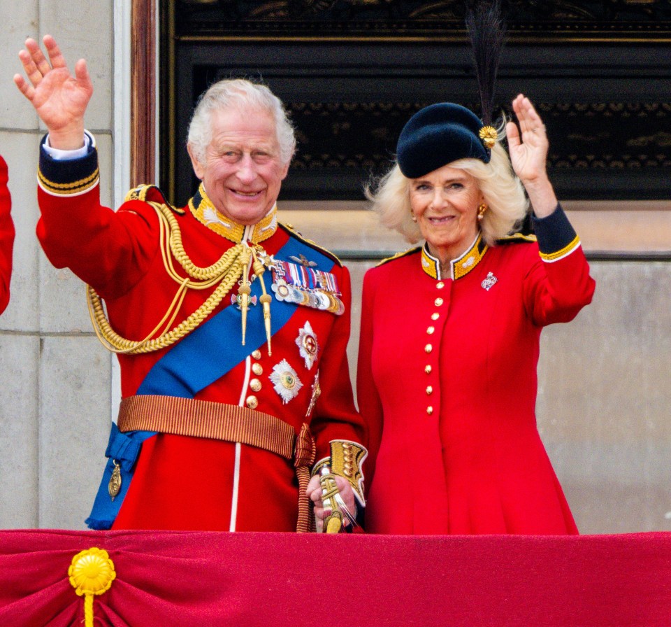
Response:
M245 78L224 78L201 94L189 123L187 142L199 163L205 161L205 149L212 140L212 111L229 107L237 107L240 111L248 108L268 111L275 120L282 165L291 161L296 150L296 136L282 101L266 85Z

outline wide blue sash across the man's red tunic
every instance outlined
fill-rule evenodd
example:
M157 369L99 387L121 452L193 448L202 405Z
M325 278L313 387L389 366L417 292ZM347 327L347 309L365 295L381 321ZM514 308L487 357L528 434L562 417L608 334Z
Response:
M304 255L317 267L333 268L333 260L301 241L289 237L275 258L284 259L294 255ZM270 293L270 281L264 274L266 289ZM262 294L261 281L252 283L252 296ZM270 305L272 332L275 335L289 321L297 305L273 299ZM138 394L177 396L193 398L201 390L230 372L248 355L266 343L266 327L261 304L247 311L247 333L245 346L242 345L242 314L238 307L225 307L216 316L205 320L177 344L168 348L140 384ZM122 433L112 423L110 440L105 452L108 458L103 479L93 509L86 524L92 529L109 529L121 508L124 497L133 478L135 463L140 454L142 442L156 435L155 431L129 431ZM113 460L121 466L122 484L114 500L108 493L108 485L114 470Z

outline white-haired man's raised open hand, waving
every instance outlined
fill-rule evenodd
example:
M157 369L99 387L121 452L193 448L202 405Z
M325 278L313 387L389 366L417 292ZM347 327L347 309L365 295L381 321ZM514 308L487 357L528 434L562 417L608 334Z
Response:
M14 83L49 129L50 146L76 150L84 146L84 113L93 94L86 61L75 64L73 76L55 39L45 35L43 41L49 60L38 43L28 38L19 52L28 80L15 74Z

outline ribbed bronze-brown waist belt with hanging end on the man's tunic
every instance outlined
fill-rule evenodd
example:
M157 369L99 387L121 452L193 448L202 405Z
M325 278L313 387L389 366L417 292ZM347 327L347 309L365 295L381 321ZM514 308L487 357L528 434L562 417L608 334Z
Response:
M315 462L315 440L307 424L303 423L296 435L294 428L280 418L248 407L194 398L136 395L122 400L117 427L121 432L157 431L240 442L294 460L298 477L296 531L311 530L310 501L305 488Z

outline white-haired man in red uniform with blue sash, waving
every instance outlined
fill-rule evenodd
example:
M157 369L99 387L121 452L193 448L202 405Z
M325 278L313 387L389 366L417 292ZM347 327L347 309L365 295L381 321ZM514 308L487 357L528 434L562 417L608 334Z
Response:
M210 87L189 127L194 197L178 209L147 185L115 212L100 204L84 129L86 62L72 75L54 39L44 43L49 60L29 39L28 80L15 76L48 128L38 238L87 283L94 327L122 371L89 526L308 530L315 460L338 476L348 509L355 494L363 504L349 273L277 221L295 148L280 101L246 80ZM319 494L314 477L317 505Z

